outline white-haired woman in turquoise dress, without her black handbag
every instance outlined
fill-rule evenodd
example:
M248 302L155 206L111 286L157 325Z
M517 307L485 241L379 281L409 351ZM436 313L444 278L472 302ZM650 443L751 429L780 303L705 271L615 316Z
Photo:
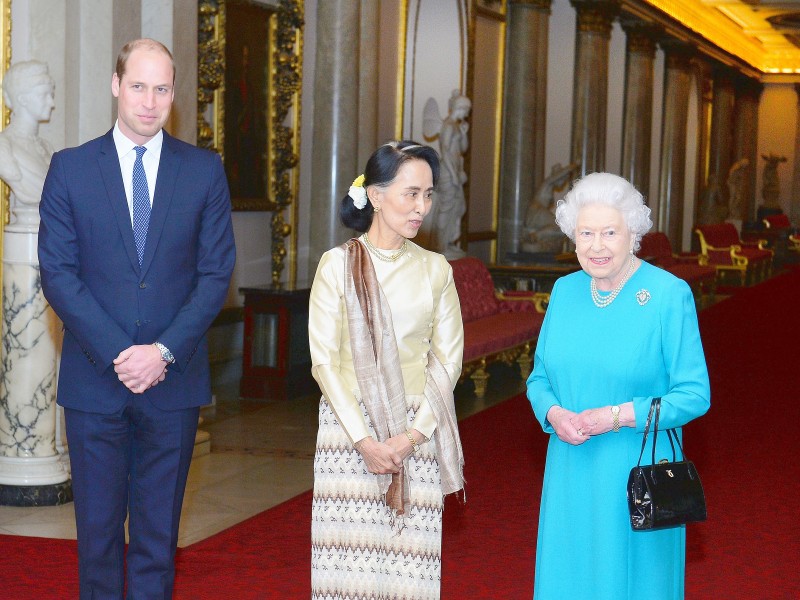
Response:
M652 221L625 179L586 175L556 221L582 270L553 287L527 382L550 435L534 598L678 600L685 526L633 531L625 489L654 397L660 426L679 435L710 406L694 299L684 281L636 257ZM656 458L671 456L659 438Z

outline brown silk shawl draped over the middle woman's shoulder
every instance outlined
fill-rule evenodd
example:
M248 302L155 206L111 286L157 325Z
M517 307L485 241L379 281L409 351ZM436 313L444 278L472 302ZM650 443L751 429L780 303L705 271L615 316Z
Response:
M378 441L408 429L403 373L394 335L392 313L378 283L367 248L356 238L343 246L344 297L353 367L361 400L372 421ZM425 397L436 416L436 458L442 493L464 488L464 454L458 435L450 378L439 358L428 353ZM406 465L407 466L407 465ZM376 475L386 505L396 515L408 509L408 475L404 468L392 475Z

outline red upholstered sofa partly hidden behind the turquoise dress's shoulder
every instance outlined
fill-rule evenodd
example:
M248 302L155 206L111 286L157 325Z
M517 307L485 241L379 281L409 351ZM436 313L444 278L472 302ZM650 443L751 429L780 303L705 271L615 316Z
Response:
M638 254L657 267L686 281L692 288L698 305L702 304L706 296L713 300L717 287L717 270L703 264L704 257L701 254L673 253L667 234L661 231L652 231L644 235Z

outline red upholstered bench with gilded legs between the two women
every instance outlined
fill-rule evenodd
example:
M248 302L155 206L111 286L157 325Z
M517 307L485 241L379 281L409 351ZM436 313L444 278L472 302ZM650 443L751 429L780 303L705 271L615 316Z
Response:
M549 294L525 292L503 297L495 293L492 276L479 259L459 258L450 264L464 320L461 378L470 377L475 395L482 398L489 379L488 364L516 361L523 379L530 374L531 350L539 336Z

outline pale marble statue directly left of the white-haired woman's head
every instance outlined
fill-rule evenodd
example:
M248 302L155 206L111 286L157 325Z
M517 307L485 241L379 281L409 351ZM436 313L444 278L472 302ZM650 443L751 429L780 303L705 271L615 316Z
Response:
M566 236L556 225L553 213L553 200L557 190L561 190L569 182L580 163L572 163L562 167L556 163L550 169L533 198L528 203L525 213L520 248L523 252L549 252L558 254L563 251Z

